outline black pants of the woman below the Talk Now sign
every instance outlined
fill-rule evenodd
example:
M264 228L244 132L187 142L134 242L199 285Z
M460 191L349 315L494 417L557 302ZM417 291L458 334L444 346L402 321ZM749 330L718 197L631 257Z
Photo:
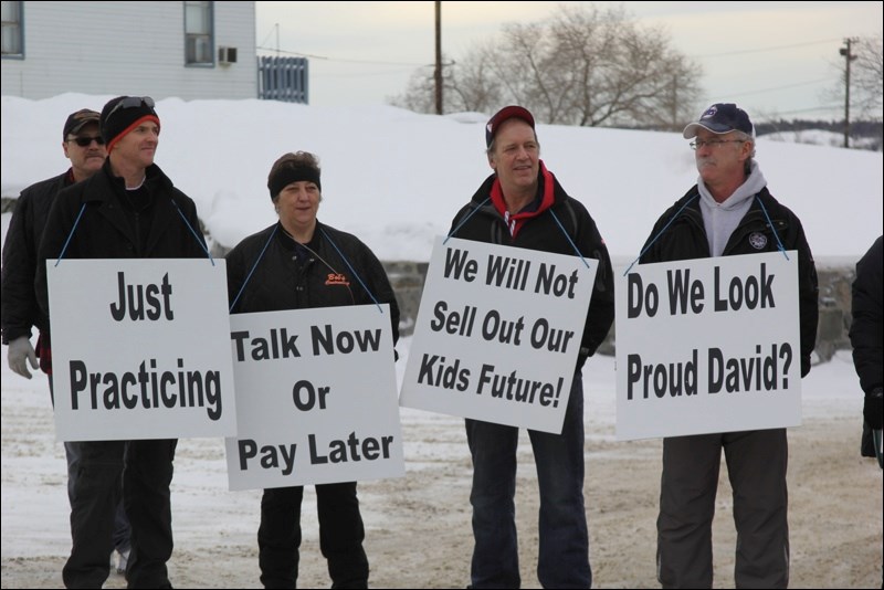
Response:
M301 558L301 502L304 487L264 489L257 529L259 565L264 588L297 588ZM366 531L356 482L316 486L319 550L328 561L332 588L368 588Z

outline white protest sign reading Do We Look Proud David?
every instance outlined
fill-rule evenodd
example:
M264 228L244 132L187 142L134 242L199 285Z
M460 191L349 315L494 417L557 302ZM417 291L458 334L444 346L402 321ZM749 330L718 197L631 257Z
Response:
M801 423L797 252L641 264L617 281L618 440Z

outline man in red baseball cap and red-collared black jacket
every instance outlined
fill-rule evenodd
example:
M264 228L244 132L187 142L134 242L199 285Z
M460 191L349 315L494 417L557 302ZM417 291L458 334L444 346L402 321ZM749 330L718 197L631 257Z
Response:
M611 260L583 203L540 159L534 116L507 106L485 125L493 170L452 221L451 236L596 259L598 270L560 434L528 430L540 491L537 576L544 588L590 588L583 504L582 366L614 317ZM473 460L471 588L519 588L515 491L518 428L466 419Z

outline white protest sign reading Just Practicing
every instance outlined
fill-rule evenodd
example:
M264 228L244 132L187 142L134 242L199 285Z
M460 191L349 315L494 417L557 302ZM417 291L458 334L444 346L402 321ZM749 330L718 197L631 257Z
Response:
M61 441L236 432L223 260L46 261Z

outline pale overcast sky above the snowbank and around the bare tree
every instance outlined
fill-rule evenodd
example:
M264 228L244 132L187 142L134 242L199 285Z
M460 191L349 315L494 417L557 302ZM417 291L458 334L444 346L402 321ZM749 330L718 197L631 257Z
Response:
M442 2L442 51L457 61L504 23L550 17L559 4ZM621 2L594 2L619 6ZM383 104L435 60L434 2L255 2L260 53L309 57L311 104ZM627 2L643 27L660 25L704 69L705 103L738 102L779 118L843 118L848 36L882 30L882 2ZM278 24L278 27L277 27Z

